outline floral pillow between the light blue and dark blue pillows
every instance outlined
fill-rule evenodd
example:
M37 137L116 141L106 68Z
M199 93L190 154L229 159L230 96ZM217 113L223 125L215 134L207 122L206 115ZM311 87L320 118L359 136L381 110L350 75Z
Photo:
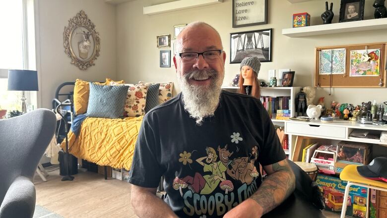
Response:
M144 115L149 83L124 85L129 86L124 116L137 117Z

